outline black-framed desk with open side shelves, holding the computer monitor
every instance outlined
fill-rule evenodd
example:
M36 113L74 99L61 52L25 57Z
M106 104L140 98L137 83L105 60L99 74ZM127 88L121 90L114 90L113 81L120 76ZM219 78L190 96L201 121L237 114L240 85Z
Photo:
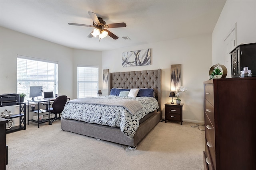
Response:
M39 125L41 123L48 122L48 124L49 124L50 123L50 112L49 112L50 102L54 102L54 100L56 98L44 98L44 99L38 99L38 100L28 100L28 125L29 125L29 121L38 123L38 128L39 128ZM68 100L70 100L70 98L68 98ZM37 104L38 105L37 109L32 111L31 108L29 108L29 103ZM42 103L47 103L48 104L48 111L46 109L40 109L40 104L42 104ZM37 113L38 114L38 119L37 120L29 119L29 112ZM39 119L40 115L44 116L44 115L47 115L47 114L48 114L48 119L42 119L42 120Z

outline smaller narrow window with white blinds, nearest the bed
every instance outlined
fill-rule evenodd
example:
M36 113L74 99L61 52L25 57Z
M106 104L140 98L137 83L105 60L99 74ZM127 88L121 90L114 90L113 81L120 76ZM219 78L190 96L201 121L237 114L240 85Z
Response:
M78 98L96 97L98 92L99 68L94 66L77 66Z

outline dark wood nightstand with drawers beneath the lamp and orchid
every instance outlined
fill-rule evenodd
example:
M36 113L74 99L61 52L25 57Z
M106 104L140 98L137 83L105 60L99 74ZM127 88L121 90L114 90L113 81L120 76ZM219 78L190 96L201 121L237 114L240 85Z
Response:
M166 120L180 121L180 125L182 125L183 104L166 103L164 105L165 105L165 123L166 123Z

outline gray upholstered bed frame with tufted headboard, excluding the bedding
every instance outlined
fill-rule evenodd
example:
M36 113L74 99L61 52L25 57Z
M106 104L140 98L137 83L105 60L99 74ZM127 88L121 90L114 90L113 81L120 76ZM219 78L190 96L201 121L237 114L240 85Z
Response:
M132 138L124 134L120 127L99 125L96 123L87 123L70 118L61 120L61 128L64 131L70 131L96 139L102 139L130 147L136 145L155 127L162 118L161 112L161 69L144 70L132 72L114 72L108 74L108 91L116 89L134 89L134 88L152 88L154 89L154 98L158 103L158 109L151 111L145 117L140 119L136 132ZM66 106L65 106L66 107ZM65 109L64 109L65 110ZM65 111L65 113L67 110ZM70 109L69 112L72 112ZM71 113L70 113L71 115Z

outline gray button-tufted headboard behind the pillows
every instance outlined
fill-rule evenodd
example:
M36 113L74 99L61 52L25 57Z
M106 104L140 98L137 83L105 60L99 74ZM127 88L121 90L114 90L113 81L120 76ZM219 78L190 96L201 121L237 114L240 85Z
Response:
M162 70L144 70L129 72L110 72L108 74L108 94L112 88L154 88L156 100L161 111L161 75Z

